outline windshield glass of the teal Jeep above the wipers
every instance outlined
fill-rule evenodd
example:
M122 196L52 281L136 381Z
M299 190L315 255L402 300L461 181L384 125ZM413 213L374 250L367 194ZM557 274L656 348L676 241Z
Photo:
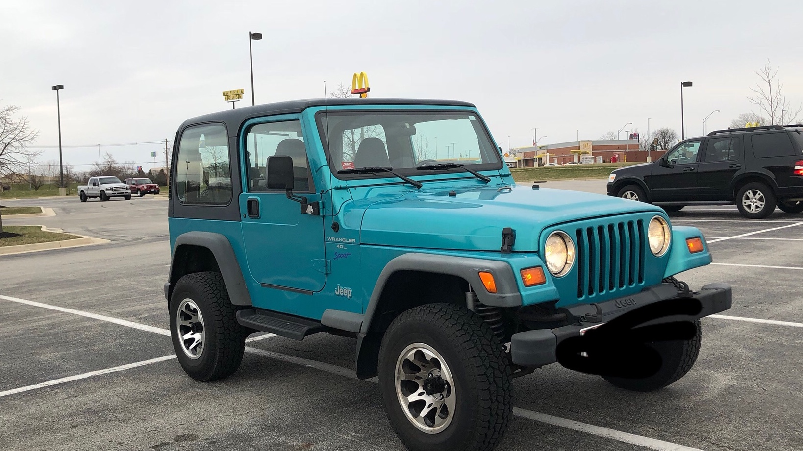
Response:
M382 167L422 175L416 167L445 162L475 170L502 168L498 149L472 112L319 112L316 119L321 135L331 136L326 147L334 173ZM442 170L463 172L454 167Z

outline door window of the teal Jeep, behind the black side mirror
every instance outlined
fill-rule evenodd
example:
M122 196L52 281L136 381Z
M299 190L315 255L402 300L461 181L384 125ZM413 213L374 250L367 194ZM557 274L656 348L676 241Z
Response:
M307 148L298 120L256 124L246 134L248 162L248 191L271 191L267 188L267 159L271 156L291 156L296 183L293 192L312 193L315 186L309 170Z

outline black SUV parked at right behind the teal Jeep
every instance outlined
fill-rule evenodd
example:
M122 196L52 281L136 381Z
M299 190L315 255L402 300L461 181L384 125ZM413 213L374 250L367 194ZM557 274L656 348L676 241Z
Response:
M751 219L768 217L776 206L801 213L803 125L733 128L680 141L652 163L613 171L608 195L666 211L736 204Z

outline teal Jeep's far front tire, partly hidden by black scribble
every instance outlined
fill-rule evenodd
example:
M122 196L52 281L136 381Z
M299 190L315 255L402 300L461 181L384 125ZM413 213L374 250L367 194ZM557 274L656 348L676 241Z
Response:
M658 341L650 343L661 356L661 368L653 376L631 379L626 377L603 376L609 383L634 392L652 392L674 384L694 366L700 351L703 330L699 319L695 321L697 333L691 339Z

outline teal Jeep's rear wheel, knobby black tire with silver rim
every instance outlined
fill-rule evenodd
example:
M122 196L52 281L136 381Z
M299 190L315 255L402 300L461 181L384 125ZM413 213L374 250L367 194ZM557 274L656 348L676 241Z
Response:
M178 362L195 380L223 379L243 361L246 327L237 322L218 272L187 274L170 296L170 336Z

